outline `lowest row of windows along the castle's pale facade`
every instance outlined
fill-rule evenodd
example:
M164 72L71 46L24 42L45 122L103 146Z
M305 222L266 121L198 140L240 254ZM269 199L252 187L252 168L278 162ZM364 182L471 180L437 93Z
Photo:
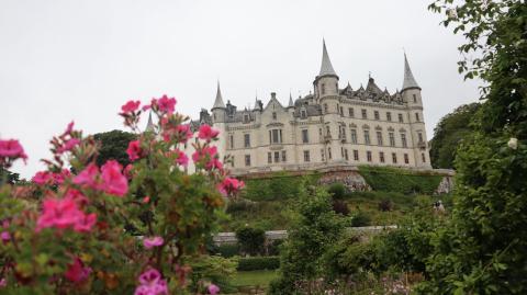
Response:
M345 160L347 160L347 161L349 160L348 149L340 148L340 154L341 154L341 156ZM310 150L304 150L303 156L304 156L304 162L311 162L311 151ZM325 150L321 149L322 161L325 161L325 156L326 156ZM359 150L354 149L352 150L352 156L354 156L355 161L360 161ZM392 152L391 156L392 156L391 157L392 158L392 163L397 163L397 154ZM422 161L426 162L426 156L425 156L424 152L421 154L421 157L422 157ZM327 158L329 160L332 159L332 148L327 149ZM371 150L366 151L366 160L368 162L373 161L373 156L372 156ZM403 160L404 160L404 163L410 163L408 154L403 154ZM285 150L267 152L267 162L268 163L273 163L273 162L279 163L279 162L287 162L287 161L288 161L288 158L287 158ZM379 151L379 162L381 162L381 163L386 162L384 151ZM250 155L245 155L245 166L250 167ZM233 167L234 167L234 160L233 160Z

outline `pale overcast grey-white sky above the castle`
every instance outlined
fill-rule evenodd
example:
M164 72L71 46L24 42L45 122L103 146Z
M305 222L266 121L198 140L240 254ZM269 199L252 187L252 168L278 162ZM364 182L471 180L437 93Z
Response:
M340 87L403 81L403 47L423 88L428 139L438 120L476 101L457 72L461 36L439 26L429 1L44 1L0 0L0 138L18 138L30 178L48 140L75 120L87 134L122 128L128 99L164 93L197 117L216 79L238 107L256 92L287 103L307 94L325 37ZM146 118L145 118L146 121Z

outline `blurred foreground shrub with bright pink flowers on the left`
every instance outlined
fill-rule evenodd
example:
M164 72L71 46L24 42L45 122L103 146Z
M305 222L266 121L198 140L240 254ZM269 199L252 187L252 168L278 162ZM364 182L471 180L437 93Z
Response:
M224 197L244 184L228 177L213 146L218 132L208 125L192 144L197 172L186 172L184 144L194 135L175 106L167 95L122 106L137 135L127 167L98 167L97 141L70 123L32 186L0 188L0 293L189 294L186 258L204 253ZM158 124L142 133L146 110ZM0 140L1 168L26 158L18 140ZM212 283L206 290L218 293Z

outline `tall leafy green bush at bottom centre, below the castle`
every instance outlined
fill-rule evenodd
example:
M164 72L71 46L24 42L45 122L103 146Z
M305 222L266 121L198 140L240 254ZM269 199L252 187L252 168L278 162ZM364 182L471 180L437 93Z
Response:
M296 207L280 251L280 277L271 283L270 294L313 294L316 279L325 273L323 254L344 230L344 219L324 190L309 194L302 186Z

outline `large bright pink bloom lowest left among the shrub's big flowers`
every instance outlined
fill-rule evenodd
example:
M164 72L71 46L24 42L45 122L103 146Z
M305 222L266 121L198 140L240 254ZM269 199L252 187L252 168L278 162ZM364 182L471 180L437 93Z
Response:
M83 216L72 200L48 197L43 202L43 212L36 220L36 231L47 227L74 227Z

